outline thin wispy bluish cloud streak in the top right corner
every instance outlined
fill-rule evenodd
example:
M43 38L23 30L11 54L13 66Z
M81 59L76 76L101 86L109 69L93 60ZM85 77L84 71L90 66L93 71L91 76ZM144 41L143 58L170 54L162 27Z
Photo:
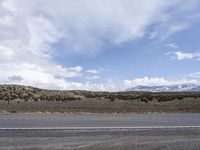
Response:
M193 24L199 22L198 6L200 1L198 0L175 0L168 1L171 3L171 8L166 8L168 13L161 15L159 23L155 25L150 32L151 39L164 40L169 36L184 31L190 28ZM175 7L173 7L175 6ZM196 16L196 17L194 17Z

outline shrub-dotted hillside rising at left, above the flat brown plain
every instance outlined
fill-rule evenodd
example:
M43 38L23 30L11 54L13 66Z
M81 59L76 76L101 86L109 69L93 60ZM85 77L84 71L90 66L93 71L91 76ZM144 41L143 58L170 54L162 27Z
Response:
M19 85L1 85L0 100L33 100L33 101L71 101L81 100L81 96L70 91L43 90Z

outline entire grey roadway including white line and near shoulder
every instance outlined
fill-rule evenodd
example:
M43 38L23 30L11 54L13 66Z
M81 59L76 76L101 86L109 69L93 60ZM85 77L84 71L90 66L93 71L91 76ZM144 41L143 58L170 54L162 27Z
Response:
M200 150L200 114L1 115L0 150Z

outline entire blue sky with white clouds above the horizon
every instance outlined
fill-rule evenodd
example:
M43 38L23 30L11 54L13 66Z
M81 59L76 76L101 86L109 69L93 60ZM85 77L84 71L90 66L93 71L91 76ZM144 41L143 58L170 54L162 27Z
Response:
M200 84L200 0L0 0L0 84Z

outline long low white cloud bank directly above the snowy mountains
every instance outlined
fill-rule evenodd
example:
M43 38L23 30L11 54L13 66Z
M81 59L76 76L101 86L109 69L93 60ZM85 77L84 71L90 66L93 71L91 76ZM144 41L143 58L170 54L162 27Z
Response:
M192 83L192 84L200 84L199 81L197 80L187 80L187 79L182 79L182 80L166 80L163 77L143 77L143 78L135 78L133 80L124 80L123 85L126 88L131 88L131 87L136 87L139 85L142 86L163 86L163 85L177 85L177 84L187 84L187 83Z

